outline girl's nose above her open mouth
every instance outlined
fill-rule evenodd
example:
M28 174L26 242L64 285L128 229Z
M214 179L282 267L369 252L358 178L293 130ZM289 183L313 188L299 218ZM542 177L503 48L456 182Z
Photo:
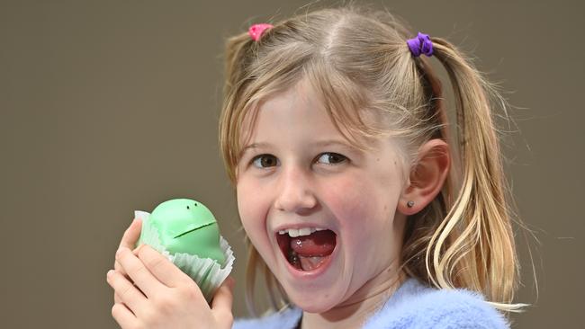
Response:
M317 205L317 199L309 173L296 167L290 167L281 173L275 209L292 213L313 209Z

